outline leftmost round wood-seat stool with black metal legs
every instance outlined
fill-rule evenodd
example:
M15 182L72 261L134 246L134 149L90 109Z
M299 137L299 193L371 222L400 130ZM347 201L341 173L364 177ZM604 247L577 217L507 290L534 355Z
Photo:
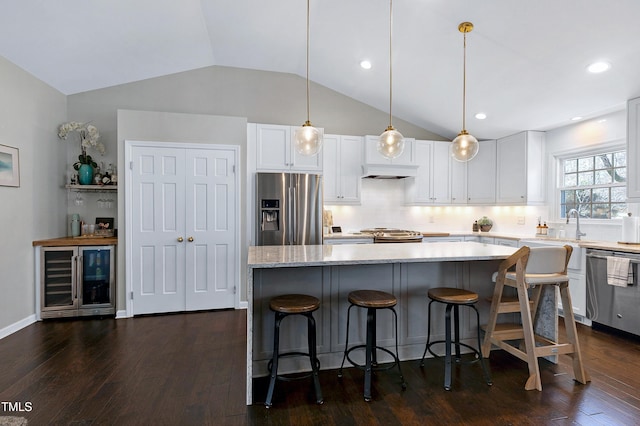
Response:
M272 405L271 400L273 398L273 390L276 385L276 380L291 381L312 377L316 393L316 402L318 404L322 404L324 402L322 399L322 390L320 389L320 381L318 379L320 361L316 355L316 321L313 318L313 312L319 307L320 300L318 300L318 298L305 294L284 294L276 296L269 301L269 308L275 312L275 328L273 333L273 356L267 366L271 377L269 380L267 399L264 403L267 408ZM303 315L307 318L307 340L309 344L309 352L279 353L280 323L289 315ZM311 363L311 373L296 377L279 376L278 359L292 356L308 356L309 362Z

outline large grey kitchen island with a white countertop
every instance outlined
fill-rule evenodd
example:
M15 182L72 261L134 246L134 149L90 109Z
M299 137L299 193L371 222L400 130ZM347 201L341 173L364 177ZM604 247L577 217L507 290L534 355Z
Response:
M305 293L320 299L321 307L314 312L317 349L321 368L327 369L338 368L342 361L349 292L373 289L392 293L398 299L400 359L418 359L427 336L428 289L451 286L475 291L480 296L481 322L486 322L493 294L491 276L499 263L516 250L476 242L249 247L247 404L253 401L253 378L267 374L266 365L273 348L271 297ZM551 312L550 323L543 327L549 329L545 333L549 335L556 328L555 299L543 301L542 308L546 306ZM444 312L438 308L441 307L434 307L431 325L435 338L444 333ZM354 314L349 339L353 344L363 344L366 315ZM471 341L476 332L474 322L466 312L461 314L461 337ZM377 338L381 346L394 344L390 312L379 314ZM281 351L304 352L305 346L304 319L293 317L283 322ZM279 367L282 373L306 369L308 360L304 358L284 359Z

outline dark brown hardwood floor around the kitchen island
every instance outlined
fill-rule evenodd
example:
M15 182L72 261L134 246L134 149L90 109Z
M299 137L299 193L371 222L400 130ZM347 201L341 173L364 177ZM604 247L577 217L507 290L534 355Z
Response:
M429 359L402 363L405 391L396 370L378 373L369 403L350 368L321 372L323 405L310 381L279 382L267 410L258 379L247 407L245 321L239 310L30 325L0 340L0 425L640 425L640 343L584 326L587 385L562 356L540 361L542 392L525 391L525 363L493 351L491 387L475 364L454 368L447 392Z

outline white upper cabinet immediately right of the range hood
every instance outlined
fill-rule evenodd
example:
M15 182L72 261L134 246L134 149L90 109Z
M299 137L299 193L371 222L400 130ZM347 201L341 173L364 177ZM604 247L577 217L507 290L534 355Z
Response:
M407 204L451 204L449 142L415 141L416 177L405 179Z

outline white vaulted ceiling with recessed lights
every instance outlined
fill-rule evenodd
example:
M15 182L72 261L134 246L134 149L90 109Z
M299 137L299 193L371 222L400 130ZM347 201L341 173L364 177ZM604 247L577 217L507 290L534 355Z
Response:
M221 65L306 76L304 0L1 0L0 55L65 94ZM446 137L548 130L640 96L638 0L395 0L393 114ZM312 81L388 112L388 0L311 0ZM361 59L373 62L364 71ZM607 60L610 71L585 67ZM314 105L311 93L311 119ZM473 115L482 111L484 121ZM383 123L381 126L386 126ZM383 129L381 129L383 130ZM402 131L401 128L398 130Z

